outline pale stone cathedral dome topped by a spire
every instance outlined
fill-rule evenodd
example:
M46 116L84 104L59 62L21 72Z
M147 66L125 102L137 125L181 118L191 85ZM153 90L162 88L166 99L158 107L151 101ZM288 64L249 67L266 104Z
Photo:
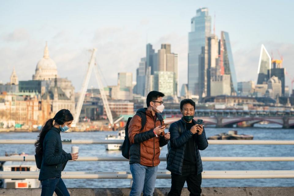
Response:
M36 74L33 75L33 80L51 80L57 76L56 63L49 57L48 46L46 43L44 56L37 63Z

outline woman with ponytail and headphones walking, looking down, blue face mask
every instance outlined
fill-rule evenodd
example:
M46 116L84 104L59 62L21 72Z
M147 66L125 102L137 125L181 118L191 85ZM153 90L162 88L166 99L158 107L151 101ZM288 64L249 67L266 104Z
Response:
M67 131L74 117L67 109L58 111L53 119L43 126L35 143L36 155L42 156L39 180L42 184L41 196L69 196L61 179L63 165L68 160L77 160L78 153L66 153L62 150L60 132Z

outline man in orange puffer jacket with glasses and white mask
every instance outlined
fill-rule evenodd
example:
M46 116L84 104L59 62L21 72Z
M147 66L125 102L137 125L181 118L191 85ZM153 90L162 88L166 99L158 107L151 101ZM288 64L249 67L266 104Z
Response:
M137 112L146 115L146 123L141 130L141 118L134 115L129 124L130 139L130 171L133 184L130 196L153 195L156 173L160 163L160 146L168 143L169 132L164 134L164 121L159 114L163 111L164 94L151 91L147 95L147 108Z

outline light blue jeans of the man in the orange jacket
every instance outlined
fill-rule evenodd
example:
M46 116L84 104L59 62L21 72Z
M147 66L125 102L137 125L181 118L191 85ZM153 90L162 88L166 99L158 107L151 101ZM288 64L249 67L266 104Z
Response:
M130 164L133 184L130 196L153 196L158 166L147 167L138 163Z

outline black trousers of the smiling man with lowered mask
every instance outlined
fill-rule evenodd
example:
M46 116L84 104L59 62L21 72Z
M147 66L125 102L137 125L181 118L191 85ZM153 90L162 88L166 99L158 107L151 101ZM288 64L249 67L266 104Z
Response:
M185 181L187 181L190 196L201 195L202 175L201 173L197 174L197 166L183 165L182 175L171 173L171 190L169 191L168 196L180 196Z

